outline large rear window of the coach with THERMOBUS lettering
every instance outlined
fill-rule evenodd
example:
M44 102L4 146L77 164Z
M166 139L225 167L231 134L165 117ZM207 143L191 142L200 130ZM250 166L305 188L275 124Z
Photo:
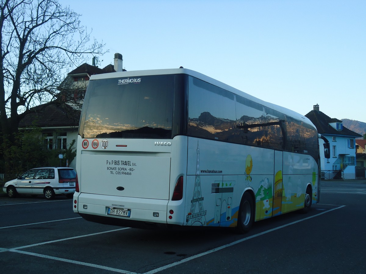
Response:
M171 138L174 75L91 80L83 138Z

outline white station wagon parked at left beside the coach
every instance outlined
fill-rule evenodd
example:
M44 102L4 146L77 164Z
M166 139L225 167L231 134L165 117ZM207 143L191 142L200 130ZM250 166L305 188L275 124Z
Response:
M69 167L33 168L18 178L6 182L3 191L10 198L19 194L44 195L51 200L55 195L71 198L75 192L76 172Z

